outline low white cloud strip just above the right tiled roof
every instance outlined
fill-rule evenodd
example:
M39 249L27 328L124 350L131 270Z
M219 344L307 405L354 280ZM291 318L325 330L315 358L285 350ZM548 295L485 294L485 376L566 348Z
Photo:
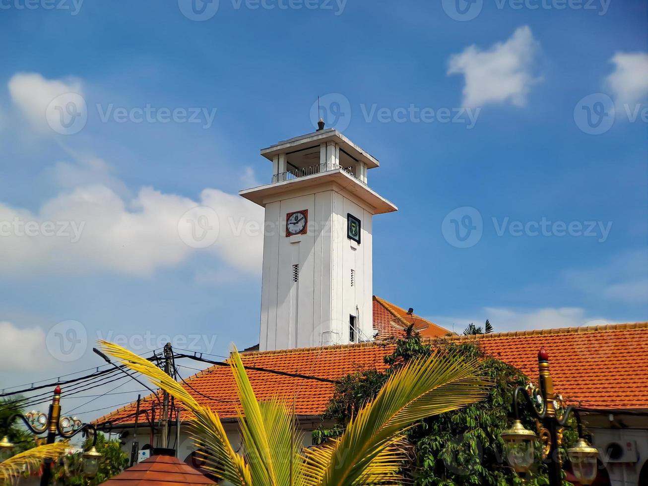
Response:
M457 332L457 334L461 334L463 329L471 322L483 327L486 319L491 321L494 332L581 327L615 322L603 319L600 316L592 316L580 307L484 307L475 314L463 317L433 316L430 320L441 327Z

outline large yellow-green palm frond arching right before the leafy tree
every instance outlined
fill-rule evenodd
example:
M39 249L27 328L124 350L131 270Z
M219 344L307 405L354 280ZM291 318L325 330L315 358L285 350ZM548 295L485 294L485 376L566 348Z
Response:
M489 385L476 360L439 354L413 360L349 422L334 450L307 452L307 474L321 477L321 485L363 484L367 478L395 483L399 454L393 452L400 434L425 417L478 402ZM326 470L319 472L326 456Z

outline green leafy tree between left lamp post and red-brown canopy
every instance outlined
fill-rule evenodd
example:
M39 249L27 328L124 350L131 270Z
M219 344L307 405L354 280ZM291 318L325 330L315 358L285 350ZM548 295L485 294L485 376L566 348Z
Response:
M92 439L86 439L83 449L92 446ZM108 441L104 434L97 435L97 452L101 454L99 470L94 478L86 478L83 472L82 452L64 457L54 469L54 481L66 486L95 486L117 476L128 467L128 455L121 450L118 440Z

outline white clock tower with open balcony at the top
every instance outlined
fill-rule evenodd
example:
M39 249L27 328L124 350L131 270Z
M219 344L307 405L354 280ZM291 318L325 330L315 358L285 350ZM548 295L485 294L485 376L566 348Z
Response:
M378 161L319 126L261 150L272 183L239 193L266 208L260 351L373 338L372 218L397 207L367 186Z

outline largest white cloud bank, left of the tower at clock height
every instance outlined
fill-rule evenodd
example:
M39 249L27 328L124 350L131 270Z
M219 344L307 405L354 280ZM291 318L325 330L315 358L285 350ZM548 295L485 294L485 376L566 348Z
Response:
M218 238L205 249L185 244L180 234L185 230L178 228L183 214L196 206L213 208L218 218L209 221ZM263 219L261 207L217 189L205 189L194 201L143 187L124 200L105 185L78 187L43 203L37 214L0 203L0 253L11 255L0 260L0 272L146 276L207 252L235 270L257 273ZM27 222L33 222L30 233ZM50 222L47 232L44 222ZM65 234L52 236L58 231Z

